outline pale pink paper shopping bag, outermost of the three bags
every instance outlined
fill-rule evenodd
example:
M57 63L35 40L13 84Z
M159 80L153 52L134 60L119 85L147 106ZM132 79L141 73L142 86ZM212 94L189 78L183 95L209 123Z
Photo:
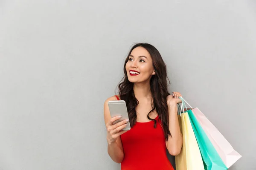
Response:
M241 158L241 155L234 150L231 144L224 138L218 129L212 125L206 116L198 109L192 109L196 119L203 128L212 145L218 152L224 164L229 168Z

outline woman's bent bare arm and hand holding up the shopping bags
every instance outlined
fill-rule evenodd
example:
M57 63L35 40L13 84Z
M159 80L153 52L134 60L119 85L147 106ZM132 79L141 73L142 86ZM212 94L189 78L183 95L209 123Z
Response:
M183 136L180 131L180 125L177 115L177 103L181 100L175 97L181 96L180 93L175 92L174 96L169 95L167 98L168 110L169 110L169 130L172 136L169 136L166 140L166 147L169 153L173 156L180 154L180 150L183 145Z

